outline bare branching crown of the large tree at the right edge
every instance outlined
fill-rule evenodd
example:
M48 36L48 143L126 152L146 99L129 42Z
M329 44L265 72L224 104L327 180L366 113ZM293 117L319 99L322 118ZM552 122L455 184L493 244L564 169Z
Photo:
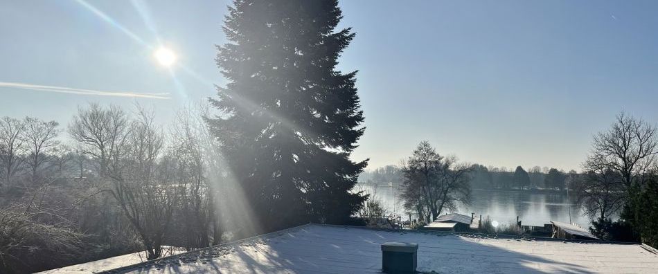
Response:
M594 136L588 161L619 172L624 185L630 188L634 179L655 163L656 146L656 127L622 112L610 129Z

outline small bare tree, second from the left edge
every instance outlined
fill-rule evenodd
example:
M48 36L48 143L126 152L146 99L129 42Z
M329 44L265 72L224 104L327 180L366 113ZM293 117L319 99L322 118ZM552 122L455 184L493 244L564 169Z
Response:
M33 183L37 181L39 170L55 157L54 152L59 145L56 139L60 134L60 129L57 129L58 125L55 121L46 122L31 117L24 119L25 130L21 134L21 138L26 145L26 163L30 167Z

